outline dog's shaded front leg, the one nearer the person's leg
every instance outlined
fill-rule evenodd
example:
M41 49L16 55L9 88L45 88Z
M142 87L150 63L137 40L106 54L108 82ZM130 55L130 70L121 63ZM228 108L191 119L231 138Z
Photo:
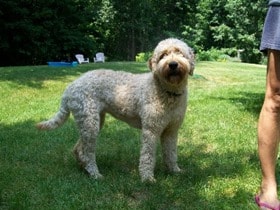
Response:
M162 154L165 165L171 172L180 172L177 164L178 129L167 129L161 135Z

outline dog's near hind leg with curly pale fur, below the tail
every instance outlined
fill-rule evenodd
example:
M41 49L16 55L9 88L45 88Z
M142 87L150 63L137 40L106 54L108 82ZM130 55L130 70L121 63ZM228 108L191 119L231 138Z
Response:
M99 114L75 116L80 139L74 147L74 154L82 167L95 179L101 178L96 164L96 140L100 130Z

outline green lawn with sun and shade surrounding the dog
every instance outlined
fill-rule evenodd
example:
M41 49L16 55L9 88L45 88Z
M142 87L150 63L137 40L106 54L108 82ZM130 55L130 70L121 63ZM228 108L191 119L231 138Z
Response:
M148 71L129 62L0 68L0 209L257 209L256 125L265 66L197 63L179 133L184 173L164 170L158 145L156 184L140 181L140 132L112 117L98 141L105 176L99 181L80 170L71 153L78 138L72 118L54 131L35 129L57 111L69 82L96 68Z

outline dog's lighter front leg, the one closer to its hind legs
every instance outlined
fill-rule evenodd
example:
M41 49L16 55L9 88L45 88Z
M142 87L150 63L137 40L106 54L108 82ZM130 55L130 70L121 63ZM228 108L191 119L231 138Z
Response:
M142 182L155 182L154 168L156 162L157 136L148 129L143 129L139 172Z

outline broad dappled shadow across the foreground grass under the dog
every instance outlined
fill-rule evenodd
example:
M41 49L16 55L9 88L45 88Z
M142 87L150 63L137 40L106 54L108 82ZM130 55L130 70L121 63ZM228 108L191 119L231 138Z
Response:
M179 146L179 163L185 172L166 173L158 152L157 183L147 185L140 182L138 175L139 131L112 121L102 130L97 148L98 165L105 178L93 181L77 170L70 153L77 139L73 128L73 121L50 132L37 131L33 121L0 124L0 165L5 169L0 172L0 208L32 209L41 204L54 209L62 208L61 204L66 209L250 209L254 206L254 192L242 188L247 180L240 178L258 167L258 159L252 153L244 154L240 150L218 154L207 151L204 144L189 142ZM180 152L185 150L188 152ZM247 161L241 157L247 157ZM227 181L233 183L225 184Z

